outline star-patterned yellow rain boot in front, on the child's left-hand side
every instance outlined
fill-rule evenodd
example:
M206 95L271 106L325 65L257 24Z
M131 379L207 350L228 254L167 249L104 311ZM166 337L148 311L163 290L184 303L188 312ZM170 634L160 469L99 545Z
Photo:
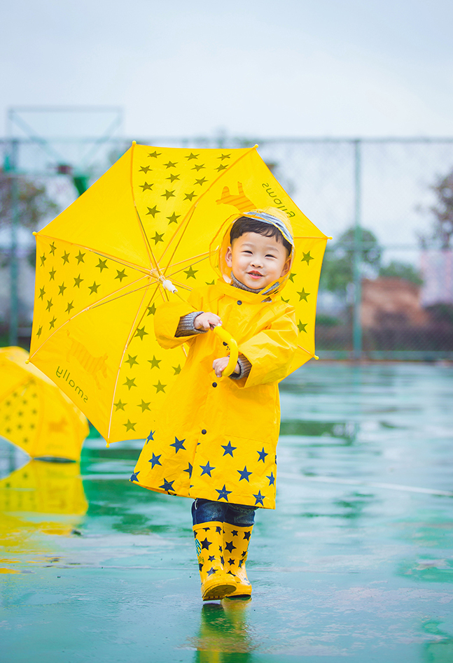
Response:
M193 525L198 568L202 580L203 601L223 599L235 592L235 576L223 570L223 522L209 521Z

